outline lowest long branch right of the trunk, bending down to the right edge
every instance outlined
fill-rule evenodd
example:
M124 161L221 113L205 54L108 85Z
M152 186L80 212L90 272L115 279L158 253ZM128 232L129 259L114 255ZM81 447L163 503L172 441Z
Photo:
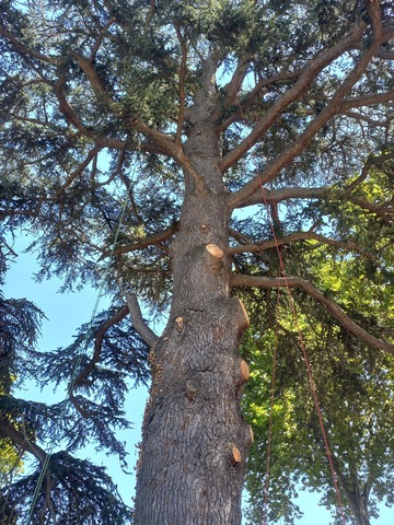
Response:
M257 276L244 276L234 275L231 279L232 287L246 287L246 288L299 288L303 290L308 295L313 298L318 303L323 304L328 312L337 319L337 322L360 341L366 342L374 348L384 350L385 352L394 354L394 345L389 341L378 339L372 336L359 325L357 325L350 317L341 310L341 307L333 301L326 298L322 292L311 284L311 282L300 279L298 277L288 278L270 278L270 277L257 277Z

